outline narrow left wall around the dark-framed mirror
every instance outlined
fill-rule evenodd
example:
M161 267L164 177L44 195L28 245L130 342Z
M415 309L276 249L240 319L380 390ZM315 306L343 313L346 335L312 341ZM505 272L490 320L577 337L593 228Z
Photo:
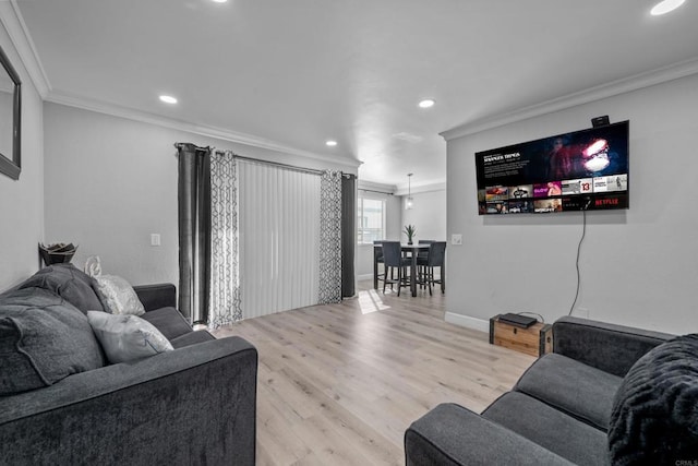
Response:
M10 4L0 7L4 10ZM3 11L3 17L4 14ZM0 46L22 81L22 172L17 181L0 175L1 291L39 267L37 244L44 239L44 129L41 98L2 25Z

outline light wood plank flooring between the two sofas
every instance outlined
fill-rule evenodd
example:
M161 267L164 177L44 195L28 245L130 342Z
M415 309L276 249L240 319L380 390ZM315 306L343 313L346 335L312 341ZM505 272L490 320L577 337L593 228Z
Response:
M412 421L446 402L480 413L534 361L446 323L441 290L371 285L214 332L258 350L258 465L402 465Z

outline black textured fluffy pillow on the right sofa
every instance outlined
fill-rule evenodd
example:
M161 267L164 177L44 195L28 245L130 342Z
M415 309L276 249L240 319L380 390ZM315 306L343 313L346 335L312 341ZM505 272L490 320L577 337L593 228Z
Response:
M641 357L613 403L611 463L674 465L698 459L698 334Z

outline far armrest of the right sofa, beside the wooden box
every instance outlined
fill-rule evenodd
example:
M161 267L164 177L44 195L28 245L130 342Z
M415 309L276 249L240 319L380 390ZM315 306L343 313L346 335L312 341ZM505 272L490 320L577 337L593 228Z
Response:
M642 355L674 337L667 333L564 316L553 324L553 351L625 377Z

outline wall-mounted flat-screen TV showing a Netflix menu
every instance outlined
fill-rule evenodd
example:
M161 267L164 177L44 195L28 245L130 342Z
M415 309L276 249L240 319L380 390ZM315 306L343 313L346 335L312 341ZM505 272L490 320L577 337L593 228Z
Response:
M550 174L530 175L529 171L535 172L537 167L543 167L543 165L541 164L537 165L535 163L533 163L532 159L538 158L538 162L540 162L540 159L543 158L543 147L550 147L554 140L563 139L565 141L576 142L577 144L579 144L579 141L591 141L594 138L612 138L613 144L610 146L609 153L612 154L611 159L614 160L613 163L618 164L618 166L612 167L611 171L606 171L606 169L604 169L595 176L594 174L585 172L581 178L573 179L553 179L551 178ZM629 139L630 122L629 120L625 120L616 123L605 124L603 127L587 128L583 130L570 131L567 133L555 134L547 138L541 138L517 144L510 144L507 146L477 152L474 154L474 162L478 189L478 214L484 216L501 215L504 213L515 213L516 215L525 213L539 214L546 208L550 213L628 210L630 206ZM524 156L521 155L522 153L525 154ZM526 160L527 166L530 165L529 168L524 170L526 171L526 174L518 172L515 175L506 175L507 172L502 171L503 175L497 175L498 178L492 178L493 175L491 171L491 178L486 178L485 167L488 166L488 164L490 164L490 167L502 167L503 164L508 163L508 159L503 159L503 157L507 156L513 157L514 162L516 162L516 157L518 157L519 160ZM616 157L615 159L613 158L614 156ZM496 158L491 158L490 160L485 162L485 157ZM493 159L495 159L496 162L492 162ZM516 170L516 168L514 168L514 170ZM579 175L579 172L577 175ZM522 177L527 177L524 182L521 182L521 180L524 179ZM535 196L533 192L534 186L540 188L541 184L551 182L558 183L557 186L562 189L564 181L576 181L577 179L580 179L582 181L590 179L592 184L602 184L602 179L607 180L606 177L616 177L616 182L618 182L619 187L622 186L622 181L624 181L625 189L610 191L607 190L604 192L593 191L592 189L592 191L588 192L573 193L569 192L569 187L574 186L574 183L567 183L565 184L565 188L567 188L567 192L561 193L558 195ZM517 181L507 182L512 179L517 179ZM501 182L497 182L497 180ZM509 193L509 189L519 187L530 187L531 192L529 192L528 195L524 195L522 198L513 199L512 194ZM554 187L555 184L553 184L553 188ZM493 192L495 192L494 190L496 188L506 189L505 198L497 199L496 194L493 195ZM547 207L545 207L544 202L547 202ZM540 211L537 212L534 207L535 205L541 206Z

